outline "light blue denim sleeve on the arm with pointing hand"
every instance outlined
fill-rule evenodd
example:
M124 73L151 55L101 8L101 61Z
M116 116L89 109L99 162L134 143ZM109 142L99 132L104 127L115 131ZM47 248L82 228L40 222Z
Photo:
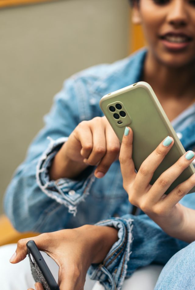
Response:
M48 176L52 159L81 121L77 98L78 88L72 77L55 96L51 111L44 117L44 128L6 190L5 213L18 231L50 232L71 227L78 204L89 193L95 166L88 166L80 180L49 180ZM75 227L80 226L74 219Z

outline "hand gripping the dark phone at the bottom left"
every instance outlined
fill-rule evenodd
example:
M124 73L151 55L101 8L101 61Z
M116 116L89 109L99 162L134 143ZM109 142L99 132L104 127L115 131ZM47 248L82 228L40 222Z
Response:
M118 231L112 227L96 225L43 233L19 240L16 253L10 262L15 264L26 258L26 244L34 240L38 249L48 254L59 266L60 289L80 290L84 287L89 266L104 260L112 245L118 240L117 233ZM37 256L39 257L39 254Z

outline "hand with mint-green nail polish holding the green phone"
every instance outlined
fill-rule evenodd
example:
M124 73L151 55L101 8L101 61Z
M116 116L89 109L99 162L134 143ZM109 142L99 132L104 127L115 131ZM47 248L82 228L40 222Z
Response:
M161 142L144 160L136 173L132 159L133 131L130 127L128 129L128 135L124 135L122 139L119 161L123 177L123 188L129 195L129 202L143 210L170 236L191 242L191 237L185 234L185 229L186 224L189 224L190 211L193 210L178 202L195 186L195 174L179 184L168 195L165 195L165 191L182 171L190 165L194 157L187 160L184 156L186 154L184 154L151 185L150 180L153 173L172 147L173 138L171 138L172 144L170 146L164 146L163 142ZM126 132L128 132L127 129ZM195 211L193 211L193 217L194 214Z

